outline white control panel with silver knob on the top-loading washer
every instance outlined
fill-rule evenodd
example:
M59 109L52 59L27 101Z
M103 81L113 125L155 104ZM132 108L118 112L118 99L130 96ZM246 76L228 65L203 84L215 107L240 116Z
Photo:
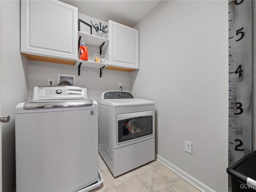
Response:
M41 86L35 87L33 100L42 99L87 99L86 88L74 86Z

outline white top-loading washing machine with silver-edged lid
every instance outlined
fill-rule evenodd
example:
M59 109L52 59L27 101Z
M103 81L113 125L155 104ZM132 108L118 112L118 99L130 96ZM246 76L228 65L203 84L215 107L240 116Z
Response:
M86 88L35 87L15 110L16 191L76 192L98 181L98 104Z

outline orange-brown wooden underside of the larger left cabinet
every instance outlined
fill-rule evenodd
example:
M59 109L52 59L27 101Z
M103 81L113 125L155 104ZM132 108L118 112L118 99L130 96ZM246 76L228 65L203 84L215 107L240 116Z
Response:
M75 65L76 61L74 60L67 60L67 59L60 59L60 58L52 58L52 57L45 57L39 55L30 55L26 53L22 53L28 60L34 61L43 61L43 62L50 62L50 63L59 63L59 64L66 64L66 65Z

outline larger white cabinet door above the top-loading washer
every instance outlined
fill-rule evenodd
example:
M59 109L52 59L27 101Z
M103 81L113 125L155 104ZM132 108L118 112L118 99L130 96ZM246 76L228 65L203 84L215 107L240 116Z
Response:
M77 60L76 7L57 0L22 0L20 24L20 52Z

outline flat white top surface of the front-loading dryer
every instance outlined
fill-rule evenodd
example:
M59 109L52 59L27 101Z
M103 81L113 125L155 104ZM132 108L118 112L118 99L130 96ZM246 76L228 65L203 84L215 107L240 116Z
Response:
M153 101L145 99L102 99L99 101L99 104L103 104L111 107L123 107L123 106L138 106L138 105L153 105Z

